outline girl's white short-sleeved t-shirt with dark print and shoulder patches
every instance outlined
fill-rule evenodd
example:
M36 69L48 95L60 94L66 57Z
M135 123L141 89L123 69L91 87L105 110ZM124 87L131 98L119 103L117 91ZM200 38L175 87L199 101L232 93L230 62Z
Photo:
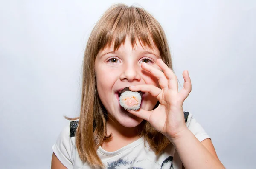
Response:
M186 126L201 142L210 138L201 125L196 122L192 114L184 112ZM70 124L62 130L56 143L52 146L53 152L68 169L90 169L87 163L83 163L75 145L75 136L70 133ZM105 164L106 169L181 169L182 162L175 149L169 144L159 155L150 149L144 138L141 137L127 146L115 152L107 152L99 146L99 157Z

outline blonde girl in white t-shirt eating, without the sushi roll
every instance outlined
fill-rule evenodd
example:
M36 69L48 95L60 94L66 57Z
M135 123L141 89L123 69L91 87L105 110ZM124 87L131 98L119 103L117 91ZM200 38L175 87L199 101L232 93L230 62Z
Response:
M117 4L96 23L84 54L80 117L52 147L52 169L222 169L211 139L178 92L166 36L143 8ZM137 111L119 91L142 91Z

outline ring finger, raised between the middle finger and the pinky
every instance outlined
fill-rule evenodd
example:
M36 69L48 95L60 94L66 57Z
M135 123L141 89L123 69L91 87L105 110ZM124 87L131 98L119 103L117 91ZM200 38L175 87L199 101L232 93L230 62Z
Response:
M167 78L168 88L178 91L178 80L174 72L163 62L162 59L157 59L157 65L163 70L164 75Z

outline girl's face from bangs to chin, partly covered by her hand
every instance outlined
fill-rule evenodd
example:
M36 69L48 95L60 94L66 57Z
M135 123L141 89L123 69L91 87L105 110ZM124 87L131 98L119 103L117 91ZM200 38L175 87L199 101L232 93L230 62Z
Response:
M99 51L94 65L99 98L108 116L125 127L136 127L143 119L132 115L120 106L118 91L138 84L160 87L157 79L140 66L142 62L146 62L161 70L156 64L157 59L160 58L159 50L155 46L153 46L154 49L143 48L138 40L136 44L132 48L130 39L127 37L124 45L121 45L117 51L113 51L113 45ZM145 93L140 108L152 110L156 103L156 98Z

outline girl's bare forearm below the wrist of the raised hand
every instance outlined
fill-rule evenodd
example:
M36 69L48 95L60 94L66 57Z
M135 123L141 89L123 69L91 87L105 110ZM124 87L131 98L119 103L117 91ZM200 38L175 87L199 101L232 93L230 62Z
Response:
M186 169L225 169L189 129L170 141L177 149Z

